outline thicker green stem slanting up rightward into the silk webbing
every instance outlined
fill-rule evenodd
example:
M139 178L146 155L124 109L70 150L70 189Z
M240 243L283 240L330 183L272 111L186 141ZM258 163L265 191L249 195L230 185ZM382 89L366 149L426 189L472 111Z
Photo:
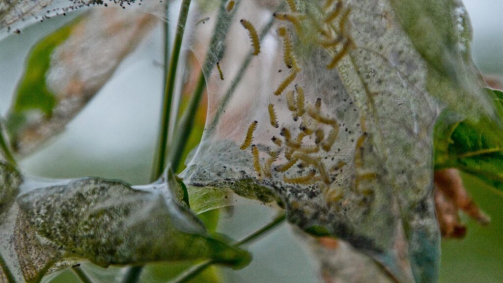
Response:
M225 9L226 1L220 1L221 3L217 15L217 23L215 25L215 30L209 44L205 62L201 69L201 73L199 74L196 89L192 95L189 105L185 109L185 112L180 119L180 122L177 124L176 136L173 137L173 143L170 145L168 163L171 164L171 168L173 168L173 170L175 171L180 165L185 146L187 145L187 140L189 139L189 136L192 132L194 125L194 116L196 115L199 103L201 102L204 90L206 89L205 75L206 77L209 77L213 68L215 67L216 62L219 61L223 56L224 48L221 47L221 42L225 41L231 20L240 3L240 1L237 2L233 11L231 13L228 13Z

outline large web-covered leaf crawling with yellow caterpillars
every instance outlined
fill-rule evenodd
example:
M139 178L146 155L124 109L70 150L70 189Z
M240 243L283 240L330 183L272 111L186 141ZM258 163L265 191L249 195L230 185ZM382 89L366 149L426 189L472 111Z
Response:
M264 202L275 196L302 229L324 227L400 281L435 281L433 125L436 98L449 105L452 97L431 93L429 59L396 18L394 4L295 3L297 14L262 2L235 8L219 49L225 79L216 68L205 73L207 125L185 182L207 194L223 188ZM241 19L257 30L257 56ZM200 30L194 38L205 38ZM474 73L463 74L477 82ZM455 89L455 76L445 76ZM288 101L292 91L295 103Z

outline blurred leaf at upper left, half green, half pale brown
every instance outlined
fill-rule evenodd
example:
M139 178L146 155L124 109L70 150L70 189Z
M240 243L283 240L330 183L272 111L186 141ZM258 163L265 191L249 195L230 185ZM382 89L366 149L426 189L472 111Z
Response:
M6 115L15 152L30 153L61 131L154 23L143 12L93 9L38 42Z

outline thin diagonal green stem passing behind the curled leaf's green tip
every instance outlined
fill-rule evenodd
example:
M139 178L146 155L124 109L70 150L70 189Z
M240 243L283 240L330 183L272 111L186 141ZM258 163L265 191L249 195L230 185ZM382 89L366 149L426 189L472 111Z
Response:
M252 241L266 235L272 229L276 228L278 225L283 223L283 221L285 221L285 219L286 219L285 214L281 214L276 219L274 219L271 223L267 224L266 226L260 228L259 230L255 231L254 233L251 233L250 235L244 237L244 239L235 243L234 247L239 247L239 246L248 244L249 242L252 242ZM208 259L206 261L203 261L203 262L199 263L198 265L193 266L191 269L187 270L186 272L182 273L180 276L178 276L174 280L170 281L170 283L187 282L188 280L197 276L199 273L203 272L206 268L211 266L213 263L216 263L216 262L213 261L212 259Z

